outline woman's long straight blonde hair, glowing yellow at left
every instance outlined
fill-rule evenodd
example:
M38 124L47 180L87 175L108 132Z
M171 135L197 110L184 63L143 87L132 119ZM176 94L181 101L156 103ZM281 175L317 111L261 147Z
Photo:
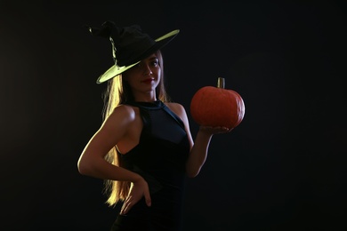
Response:
M163 56L160 51L155 52L157 59L159 60L159 66L161 68L161 77L159 84L157 85L156 93L157 100L162 100L163 102L170 101L167 92L165 91L164 84L164 65ZM109 80L108 87L103 96L104 98L104 110L103 119L105 120L120 104L124 104L127 101L133 100L133 92L130 85L124 81L122 74L116 76ZM112 164L122 167L122 160L120 154L117 152L117 148L113 147L109 150L108 155L105 159ZM104 193L107 195L106 203L109 206L114 206L118 201L124 201L129 193L130 182L117 181L106 179L104 181Z

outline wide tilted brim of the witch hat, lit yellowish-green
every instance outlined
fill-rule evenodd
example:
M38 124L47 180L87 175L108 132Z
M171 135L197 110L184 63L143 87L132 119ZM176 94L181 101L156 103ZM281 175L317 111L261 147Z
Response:
M165 44L168 44L171 40L173 40L173 37L176 36L179 32L180 32L179 29L175 29L175 30L165 34L164 36L158 37L155 40L156 44L154 44L146 52L141 54L141 56L137 60L134 60L133 64L122 66L122 67L119 67L116 64L113 65L104 74L102 74L101 76L98 77L98 79L96 80L96 84L104 83L104 82L108 81L109 79L122 74L123 72L125 72L125 70L127 70L129 68L133 68L133 66L135 66L136 64L141 62L141 60L147 58L150 54L157 52L162 47L164 47Z

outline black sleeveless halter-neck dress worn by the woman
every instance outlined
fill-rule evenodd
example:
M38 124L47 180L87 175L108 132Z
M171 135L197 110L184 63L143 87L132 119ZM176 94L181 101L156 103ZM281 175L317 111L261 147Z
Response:
M143 129L139 144L122 155L122 161L147 180L152 203L148 207L142 198L127 214L117 216L111 230L180 230L190 153L184 124L160 100L127 104L140 108Z

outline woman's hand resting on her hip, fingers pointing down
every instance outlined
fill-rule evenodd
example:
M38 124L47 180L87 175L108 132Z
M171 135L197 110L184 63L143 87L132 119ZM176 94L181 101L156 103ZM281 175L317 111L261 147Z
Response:
M141 200L142 196L144 196L147 206L150 206L151 199L149 195L149 185L143 178L132 182L129 194L123 203L120 214L125 215L128 211L130 211L133 205Z

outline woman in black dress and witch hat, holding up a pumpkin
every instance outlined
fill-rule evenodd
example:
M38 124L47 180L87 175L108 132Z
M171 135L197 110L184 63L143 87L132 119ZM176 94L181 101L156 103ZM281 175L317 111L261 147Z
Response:
M185 178L198 175L212 136L229 130L200 126L194 142L185 109L170 102L160 49L178 30L153 40L138 26L102 26L90 29L109 37L115 65L97 80L109 83L104 122L78 171L106 180L110 206L123 203L112 230L180 230Z

